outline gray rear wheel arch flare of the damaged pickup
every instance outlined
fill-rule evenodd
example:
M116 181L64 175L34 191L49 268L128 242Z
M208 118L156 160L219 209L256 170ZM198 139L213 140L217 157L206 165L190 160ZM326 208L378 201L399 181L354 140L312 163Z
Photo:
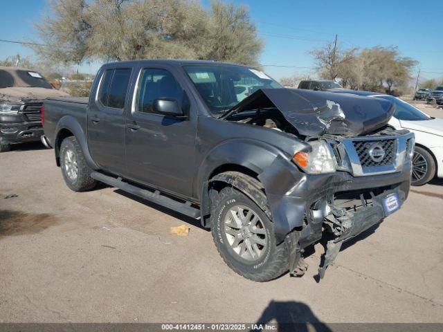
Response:
M98 165L93 161L91 154L89 154L86 133L84 132L78 120L70 115L63 116L55 127L55 157L59 158L59 147L62 143L60 142L60 140L64 138L64 136L61 135L63 130L69 130L71 131L71 133L73 133L78 143L80 144L80 147L82 148L83 156L86 160L87 165L91 167L91 169L99 169Z

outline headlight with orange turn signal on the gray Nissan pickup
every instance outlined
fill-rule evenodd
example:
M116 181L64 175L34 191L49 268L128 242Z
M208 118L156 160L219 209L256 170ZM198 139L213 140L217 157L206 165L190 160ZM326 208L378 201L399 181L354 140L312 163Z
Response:
M325 142L310 142L311 152L297 152L293 160L309 174L336 172L336 160Z

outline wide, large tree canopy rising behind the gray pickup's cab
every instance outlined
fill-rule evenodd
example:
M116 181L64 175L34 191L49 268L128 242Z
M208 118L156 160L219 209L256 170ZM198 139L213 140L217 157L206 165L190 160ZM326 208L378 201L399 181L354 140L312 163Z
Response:
M55 63L129 59L214 59L257 64L262 41L246 8L192 0L52 0L36 24Z

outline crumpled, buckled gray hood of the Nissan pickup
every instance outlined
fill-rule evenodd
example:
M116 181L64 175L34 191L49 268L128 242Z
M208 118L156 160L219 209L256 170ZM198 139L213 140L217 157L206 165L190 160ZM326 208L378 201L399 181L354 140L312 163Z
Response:
M260 89L237 104L235 113L275 107L304 136L359 136L388 124L388 100L302 89Z

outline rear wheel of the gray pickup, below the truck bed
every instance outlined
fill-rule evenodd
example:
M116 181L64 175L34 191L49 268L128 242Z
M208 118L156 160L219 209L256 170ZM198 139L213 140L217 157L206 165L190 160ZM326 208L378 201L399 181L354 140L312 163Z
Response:
M91 169L86 164L80 144L74 136L65 138L60 146L60 167L64 182L74 192L91 190L97 184L97 181L91 178Z

